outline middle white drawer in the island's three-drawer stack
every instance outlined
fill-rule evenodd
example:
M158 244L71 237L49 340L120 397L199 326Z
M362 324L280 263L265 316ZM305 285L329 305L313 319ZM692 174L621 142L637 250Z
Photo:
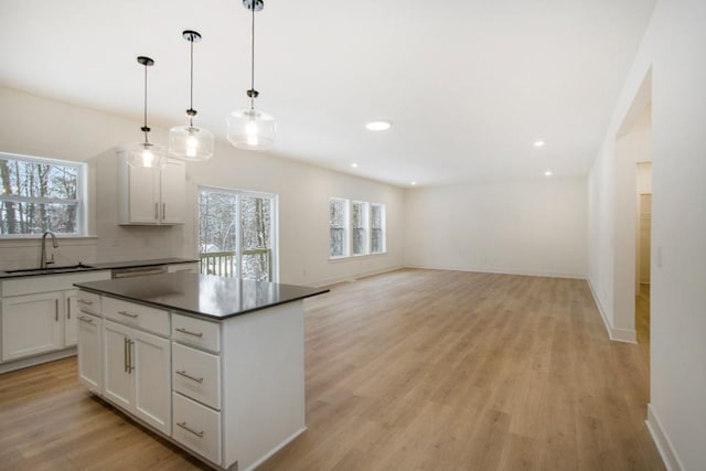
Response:
M221 409L221 357L172 342L172 388Z

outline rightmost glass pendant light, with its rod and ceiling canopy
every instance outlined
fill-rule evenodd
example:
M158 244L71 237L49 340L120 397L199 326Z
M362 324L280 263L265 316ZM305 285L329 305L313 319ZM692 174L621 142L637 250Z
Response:
M255 98L259 93L255 89L255 12L265 8L264 0L243 0L243 7L253 14L252 50L250 50L250 109L238 109L226 118L227 138L231 143L242 149L264 150L275 143L277 120L267 113L255 109Z

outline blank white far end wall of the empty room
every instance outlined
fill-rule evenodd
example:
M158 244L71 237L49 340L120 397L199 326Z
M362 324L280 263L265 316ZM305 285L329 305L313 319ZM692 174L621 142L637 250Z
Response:
M586 276L586 179L407 190L409 266Z

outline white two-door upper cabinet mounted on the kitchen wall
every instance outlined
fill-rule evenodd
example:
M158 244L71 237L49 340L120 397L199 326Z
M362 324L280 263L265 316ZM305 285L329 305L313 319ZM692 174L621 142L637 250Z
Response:
M163 169L132 168L118 161L119 222L128 225L184 223L186 164L168 159Z

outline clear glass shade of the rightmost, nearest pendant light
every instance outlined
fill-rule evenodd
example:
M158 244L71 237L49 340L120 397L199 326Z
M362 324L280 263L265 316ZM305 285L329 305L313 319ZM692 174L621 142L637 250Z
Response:
M275 143L277 120L256 109L238 109L226 118L228 141L240 149L264 150Z

